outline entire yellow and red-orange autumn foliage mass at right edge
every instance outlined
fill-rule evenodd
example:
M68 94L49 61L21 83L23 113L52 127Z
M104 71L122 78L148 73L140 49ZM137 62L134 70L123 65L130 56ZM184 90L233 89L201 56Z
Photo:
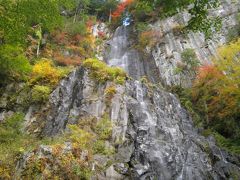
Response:
M240 136L240 40L218 50L214 64L199 68L192 100L205 125L225 137Z

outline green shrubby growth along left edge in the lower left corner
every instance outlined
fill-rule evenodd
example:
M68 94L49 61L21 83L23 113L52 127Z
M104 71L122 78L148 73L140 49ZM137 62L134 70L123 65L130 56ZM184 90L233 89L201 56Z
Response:
M0 123L0 179L11 179L17 157L36 145L35 138L23 132L23 120L22 113L15 113Z

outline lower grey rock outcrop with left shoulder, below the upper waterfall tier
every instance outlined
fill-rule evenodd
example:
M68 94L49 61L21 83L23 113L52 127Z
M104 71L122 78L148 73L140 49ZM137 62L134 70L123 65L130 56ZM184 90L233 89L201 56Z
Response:
M75 73L83 75L82 71ZM87 79L87 75L83 77ZM54 96L64 86L52 94L57 106L46 114L49 119L43 132L54 135L76 119L90 115L101 118L108 112L114 124L112 141L119 144L113 161L118 163L108 170L115 175L108 172L109 177L126 179L122 174L130 179L227 179L240 175L239 159L219 149L213 139L199 135L173 94L130 80L126 86L117 87L108 105L103 98L104 87L91 80L86 82L78 91L84 96L71 96L71 91ZM57 103L62 101L72 105ZM77 102L81 103L77 106Z

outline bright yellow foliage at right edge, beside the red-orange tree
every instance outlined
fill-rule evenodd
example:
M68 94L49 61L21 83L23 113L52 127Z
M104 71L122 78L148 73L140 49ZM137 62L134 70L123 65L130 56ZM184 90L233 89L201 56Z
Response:
M223 72L223 83L216 99L225 101L225 107L218 114L221 117L239 113L240 101L240 38L218 49L214 60L218 70ZM216 100L216 104L219 102Z

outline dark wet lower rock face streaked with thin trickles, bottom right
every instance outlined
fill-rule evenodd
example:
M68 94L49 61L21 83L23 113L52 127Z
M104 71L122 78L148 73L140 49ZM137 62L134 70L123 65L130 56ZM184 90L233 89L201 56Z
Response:
M239 165L226 160L229 155L197 133L174 95L159 89L149 95L137 81L127 89L133 179L227 179L239 173Z

